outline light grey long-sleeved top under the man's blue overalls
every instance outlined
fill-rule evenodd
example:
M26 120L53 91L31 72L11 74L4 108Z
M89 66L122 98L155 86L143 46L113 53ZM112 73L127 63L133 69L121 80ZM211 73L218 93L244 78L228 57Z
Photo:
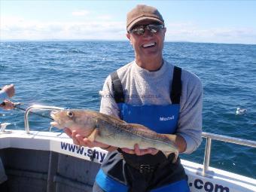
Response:
M117 69L125 102L130 105L169 105L171 104L170 89L174 66L164 61L156 72L149 72L139 67L135 61ZM184 151L190 154L202 142L202 105L203 86L199 78L182 69L182 92L178 129L175 134L182 136L187 142ZM100 112L120 117L120 111L113 98L111 77L105 80L102 90Z

